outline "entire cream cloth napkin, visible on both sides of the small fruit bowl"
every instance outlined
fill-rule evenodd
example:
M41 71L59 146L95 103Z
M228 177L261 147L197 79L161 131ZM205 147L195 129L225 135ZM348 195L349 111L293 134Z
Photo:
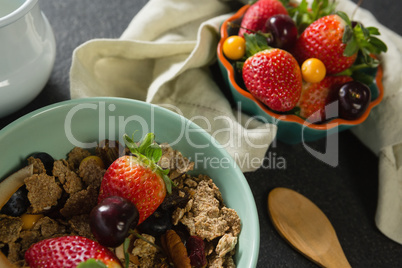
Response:
M242 0L246 2L246 0ZM243 172L259 166L276 126L232 109L210 74L220 24L232 14L230 0L150 0L119 39L91 40L73 53L72 98L116 96L161 105L194 121L237 161ZM351 14L356 5L340 0ZM380 160L378 227L402 243L402 39L364 9L354 19L378 27L389 51L381 60L385 96L354 133ZM250 165L253 159L254 165Z

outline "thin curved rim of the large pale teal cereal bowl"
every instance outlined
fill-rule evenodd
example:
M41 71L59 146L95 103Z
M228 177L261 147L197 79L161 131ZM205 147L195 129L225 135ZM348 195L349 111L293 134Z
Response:
M0 130L0 140L2 139L3 136L9 135L14 131L15 129L18 129L21 125L23 125L25 122L34 119L36 117L42 117L48 113L52 113L55 110L63 110L64 108L72 107L74 105L82 104L82 103L88 103L88 102L106 102L106 103L113 103L116 106L119 104L124 104L124 105L132 105L133 107L144 107L147 108L149 106L155 107L156 110L159 110L163 112L167 117L169 118L177 118L177 120L184 120L188 126L191 127L191 129L194 129L197 135L202 135L204 138L210 141L211 147L214 149L220 150L220 152L224 155L224 157L227 157L228 159L231 159L233 162L235 161L232 156L227 152L222 147L219 147L218 144L219 142L216 141L216 139L211 136L206 130L198 126L196 123L190 121L189 119L185 118L184 116L175 113L171 110L168 110L164 107L161 107L156 104L148 103L145 101L140 101L140 100L135 100L135 99L129 99L129 98L122 98L122 97L86 97L86 98L80 98L80 99L70 99L70 100L65 100L57 103L53 103L47 106L44 106L42 108L39 108L37 110L34 110L18 119L15 121L11 122L7 126L5 126L3 129ZM155 113L158 113L158 111L155 110ZM248 226L248 229L252 231L253 234L255 234L252 237L246 237L246 241L249 241L250 246L251 246L251 255L249 258L247 258L246 264L248 265L248 268L254 268L257 267L257 262L258 262L258 256L259 256L259 248L260 248L260 224L259 224L259 216L258 216L258 210L257 210L257 205L255 203L255 198L252 194L250 185L247 182L246 177L244 176L243 172L240 170L238 165L233 165L233 171L235 172L236 175L238 175L239 183L241 185L241 188L244 189L244 195L243 198L245 200L249 200L249 203L252 206L247 206L247 209L250 210L249 213L251 213L251 216L254 218L252 226ZM0 180L1 183L1 180ZM230 207L230 206L229 206ZM243 222L242 222L243 226ZM241 241L240 241L241 243ZM238 246L238 245L237 245ZM0 252L1 253L1 252ZM237 253L240 254L239 258L241 258L242 254L241 252ZM1 263L1 254L0 254L0 263Z

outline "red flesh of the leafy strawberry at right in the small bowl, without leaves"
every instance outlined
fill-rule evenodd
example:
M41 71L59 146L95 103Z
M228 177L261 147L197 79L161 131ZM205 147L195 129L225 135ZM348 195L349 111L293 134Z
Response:
M346 44L342 42L345 21L338 15L328 15L310 24L300 35L292 54L299 64L309 58L320 59L327 74L348 69L355 62L357 52L345 56Z

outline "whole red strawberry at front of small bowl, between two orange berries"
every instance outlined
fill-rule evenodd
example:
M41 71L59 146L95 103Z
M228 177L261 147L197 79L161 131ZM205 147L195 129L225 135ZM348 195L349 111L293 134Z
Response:
M247 58L243 80L254 97L278 112L292 110L302 88L297 61L289 52L278 48L268 48Z

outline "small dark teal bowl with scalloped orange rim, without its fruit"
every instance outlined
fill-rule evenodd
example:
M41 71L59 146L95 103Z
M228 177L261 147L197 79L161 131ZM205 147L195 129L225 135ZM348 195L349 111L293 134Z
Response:
M367 70L367 73L373 77L373 83L370 85L372 100L364 114L356 120L335 118L325 123L314 124L294 114L279 114L270 110L245 89L242 85L241 78L236 74L234 63L228 60L222 51L222 46L226 38L237 34L238 31L238 29L230 27L229 23L240 25L242 17L248 7L249 5L243 6L233 16L222 23L220 28L221 39L217 46L218 64L225 86L229 89L237 106L250 116L263 122L276 125L278 128L278 140L287 144L298 144L301 142L315 141L349 129L364 122L371 109L382 101L384 94L382 86L383 71L380 66Z

